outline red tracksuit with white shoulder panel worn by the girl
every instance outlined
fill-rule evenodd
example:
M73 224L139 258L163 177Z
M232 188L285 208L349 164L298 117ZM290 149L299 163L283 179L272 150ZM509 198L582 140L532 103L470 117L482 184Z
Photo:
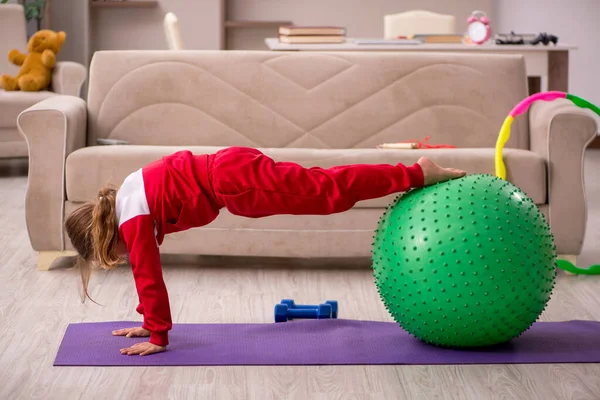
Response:
M116 207L150 343L166 346L172 327L159 256L166 234L207 225L222 208L250 218L326 215L420 186L418 164L303 168L244 147L210 155L180 151L137 170L119 189Z

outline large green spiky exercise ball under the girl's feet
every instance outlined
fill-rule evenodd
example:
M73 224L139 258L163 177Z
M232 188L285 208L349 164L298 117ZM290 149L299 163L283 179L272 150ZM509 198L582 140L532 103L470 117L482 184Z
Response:
M519 188L491 175L414 189L375 231L375 285L399 325L442 347L507 342L540 316L556 277L554 237Z

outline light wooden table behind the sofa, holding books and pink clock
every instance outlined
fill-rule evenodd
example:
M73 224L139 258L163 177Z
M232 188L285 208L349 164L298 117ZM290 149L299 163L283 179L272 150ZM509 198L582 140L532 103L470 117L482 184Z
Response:
M549 45L496 45L465 44L356 44L347 38L340 44L286 44L277 38L265 43L273 51L448 51L478 52L483 54L520 54L525 57L525 68L531 94L546 90L569 91L569 51L577 49L567 44Z

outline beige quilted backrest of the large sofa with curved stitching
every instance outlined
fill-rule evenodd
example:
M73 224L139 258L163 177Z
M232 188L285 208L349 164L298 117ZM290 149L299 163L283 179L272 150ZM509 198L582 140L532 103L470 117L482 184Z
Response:
M494 147L527 96L518 55L100 51L89 145L373 148L423 139ZM529 147L525 117L506 147Z

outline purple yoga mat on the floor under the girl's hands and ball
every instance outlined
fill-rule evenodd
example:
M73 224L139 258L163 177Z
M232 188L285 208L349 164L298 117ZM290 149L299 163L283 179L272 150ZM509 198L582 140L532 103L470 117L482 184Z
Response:
M600 362L600 322L537 322L512 342L471 350L422 343L390 322L343 319L268 324L175 324L168 350L124 356L147 338L112 336L139 322L70 324L54 365L534 364Z

